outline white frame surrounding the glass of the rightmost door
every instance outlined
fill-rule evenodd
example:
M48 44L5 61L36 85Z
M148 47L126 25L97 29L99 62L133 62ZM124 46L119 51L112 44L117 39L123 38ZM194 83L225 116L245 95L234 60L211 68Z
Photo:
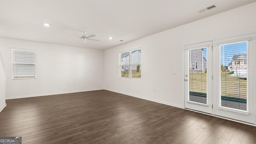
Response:
M248 110L237 110L234 108L227 108L222 107L220 104L220 72L214 71L213 77L214 77L214 100L213 100L213 114L217 116L222 116L225 118L231 118L234 120L239 120L242 122L247 122L250 124L256 124L256 112L255 112L255 104L256 104L256 98L255 98L255 85L256 85L256 78L255 78L255 68L256 68L256 50L255 50L255 37L256 34L246 34L242 36L236 36L232 38L223 38L219 40L214 40L214 48L213 48L213 55L214 55L214 68L220 69L220 44L228 44L233 42L242 42L242 41L248 41L248 66L247 66L247 74L248 74L248 98L247 98L247 104L248 104Z

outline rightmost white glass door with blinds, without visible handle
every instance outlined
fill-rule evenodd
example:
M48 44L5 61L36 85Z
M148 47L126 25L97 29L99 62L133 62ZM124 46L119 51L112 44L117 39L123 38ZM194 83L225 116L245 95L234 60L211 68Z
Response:
M254 34L214 42L214 114L255 124Z

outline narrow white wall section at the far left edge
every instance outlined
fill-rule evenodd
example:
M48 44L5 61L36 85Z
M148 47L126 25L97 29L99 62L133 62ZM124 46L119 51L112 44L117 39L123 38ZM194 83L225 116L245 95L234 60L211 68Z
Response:
M1 55L0 55L0 112L6 106L5 103L5 91L6 91L6 74L4 71L4 65L1 62Z

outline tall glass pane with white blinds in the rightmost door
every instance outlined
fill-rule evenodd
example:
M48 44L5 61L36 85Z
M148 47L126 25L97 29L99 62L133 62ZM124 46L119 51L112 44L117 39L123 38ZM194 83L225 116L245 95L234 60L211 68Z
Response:
M220 76L223 107L248 110L248 41L221 44Z

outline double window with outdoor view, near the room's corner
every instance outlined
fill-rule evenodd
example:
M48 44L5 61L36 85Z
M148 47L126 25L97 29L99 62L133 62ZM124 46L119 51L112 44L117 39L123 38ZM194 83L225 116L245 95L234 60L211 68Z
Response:
M119 57L121 78L141 77L141 49L120 53Z

